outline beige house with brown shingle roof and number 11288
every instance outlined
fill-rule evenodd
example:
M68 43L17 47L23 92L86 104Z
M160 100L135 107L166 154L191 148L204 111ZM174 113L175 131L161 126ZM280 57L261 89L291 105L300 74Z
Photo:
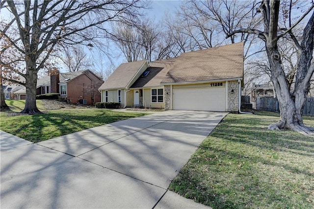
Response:
M238 111L243 43L121 64L99 90L121 107Z

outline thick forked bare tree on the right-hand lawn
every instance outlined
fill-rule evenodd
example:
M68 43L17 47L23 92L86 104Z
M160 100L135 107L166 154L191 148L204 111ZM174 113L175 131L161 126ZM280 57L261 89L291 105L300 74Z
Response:
M292 2L292 1L290 1ZM305 135L313 134L313 128L306 127L303 124L302 113L306 100L306 96L310 89L310 80L314 73L313 63L313 48L314 48L314 12L303 29L303 38L299 42L293 29L309 14L314 8L314 4L310 5L310 8L305 14L300 17L294 24L292 24L291 18L289 18L288 28L279 27L279 11L280 1L263 0L259 11L263 17L264 30L256 28L239 28L232 31L227 37L234 35L235 33L253 33L258 34L264 41L265 48L268 56L269 66L271 70L271 81L276 90L277 98L280 104L280 121L276 124L271 124L268 129L281 130L289 129L292 131L298 131ZM292 3L290 3L289 11L292 10ZM288 16L292 16L291 12ZM289 90L288 82L284 73L284 67L282 65L282 57L278 50L278 40L289 36L296 48L298 49L297 67L295 73L295 85L292 92Z

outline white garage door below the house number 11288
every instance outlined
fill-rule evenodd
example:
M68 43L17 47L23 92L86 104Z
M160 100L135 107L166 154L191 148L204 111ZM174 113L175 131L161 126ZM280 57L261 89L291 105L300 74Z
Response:
M175 110L225 111L225 87L173 89Z

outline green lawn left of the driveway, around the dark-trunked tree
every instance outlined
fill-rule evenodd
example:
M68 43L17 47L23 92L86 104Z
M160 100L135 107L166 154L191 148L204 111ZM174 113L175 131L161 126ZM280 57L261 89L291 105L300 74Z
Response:
M6 101L7 102L7 101ZM38 107L45 110L41 101ZM8 101L9 106L18 112L24 108L23 101ZM19 136L32 142L44 141L57 136L89 129L92 127L113 123L145 113L117 112L108 109L79 108L46 110L47 113L36 115L7 116L14 112L1 111L0 130Z

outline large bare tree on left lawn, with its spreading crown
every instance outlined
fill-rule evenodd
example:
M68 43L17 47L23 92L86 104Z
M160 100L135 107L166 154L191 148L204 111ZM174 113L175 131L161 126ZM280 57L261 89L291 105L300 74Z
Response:
M9 60L24 62L17 70L12 61L1 64L26 79L26 105L23 113L40 112L36 106L37 73L45 66L57 43L89 45L106 31L108 22L131 23L137 19L139 0L69 0L69 1L11 1L3 0L0 8L10 18L1 22L0 35L9 41L1 49ZM8 49L14 52L9 53Z

